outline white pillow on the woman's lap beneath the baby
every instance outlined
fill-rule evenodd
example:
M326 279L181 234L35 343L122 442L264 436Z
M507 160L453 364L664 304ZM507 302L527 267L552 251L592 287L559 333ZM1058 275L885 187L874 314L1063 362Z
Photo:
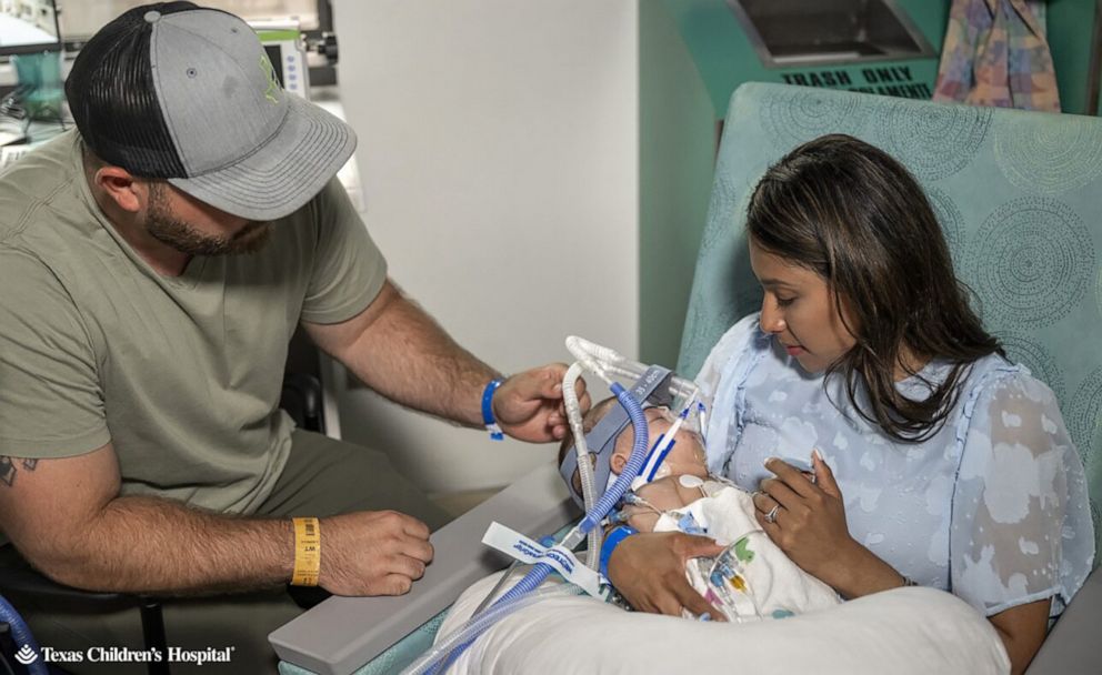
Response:
M462 625L498 576L468 588L439 635ZM983 616L949 593L919 587L738 625L630 613L583 596L553 597L507 616L449 669L503 675L1009 672L1002 642Z

